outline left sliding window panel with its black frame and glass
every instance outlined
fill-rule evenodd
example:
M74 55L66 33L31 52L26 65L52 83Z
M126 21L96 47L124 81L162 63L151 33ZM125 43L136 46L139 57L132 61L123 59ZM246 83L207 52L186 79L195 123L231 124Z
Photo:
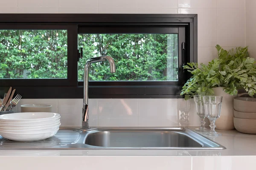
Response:
M77 26L0 25L0 85L76 85L76 37Z

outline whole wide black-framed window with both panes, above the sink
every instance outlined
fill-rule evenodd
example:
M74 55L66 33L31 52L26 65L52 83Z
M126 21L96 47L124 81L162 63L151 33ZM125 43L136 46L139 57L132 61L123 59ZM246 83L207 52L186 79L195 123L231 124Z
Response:
M81 50L83 57L81 57ZM24 98L179 98L197 61L195 14L0 14L0 88ZM0 93L1 94L1 93Z

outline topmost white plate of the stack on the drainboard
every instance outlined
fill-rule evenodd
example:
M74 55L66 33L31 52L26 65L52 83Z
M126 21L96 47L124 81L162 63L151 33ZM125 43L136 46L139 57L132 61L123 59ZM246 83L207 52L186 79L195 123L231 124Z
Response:
M58 113L49 112L24 112L0 115L1 122L36 122L46 121L59 117Z

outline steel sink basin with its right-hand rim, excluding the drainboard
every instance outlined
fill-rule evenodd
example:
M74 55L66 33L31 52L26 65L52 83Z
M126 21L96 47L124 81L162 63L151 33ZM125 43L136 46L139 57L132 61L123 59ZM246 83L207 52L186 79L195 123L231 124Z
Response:
M108 149L225 149L184 127L100 128L88 132L84 143Z

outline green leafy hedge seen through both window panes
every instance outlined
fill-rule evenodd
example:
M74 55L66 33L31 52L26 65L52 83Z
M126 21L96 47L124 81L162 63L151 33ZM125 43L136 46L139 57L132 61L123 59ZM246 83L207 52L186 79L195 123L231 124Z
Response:
M177 81L177 34L79 34L84 57L109 55L108 62L90 66L90 80ZM67 30L1 30L0 78L67 78Z

